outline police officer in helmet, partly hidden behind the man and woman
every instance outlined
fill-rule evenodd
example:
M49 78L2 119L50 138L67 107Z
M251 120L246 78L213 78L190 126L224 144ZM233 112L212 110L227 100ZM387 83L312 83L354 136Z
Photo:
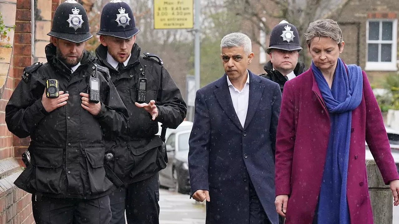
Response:
M281 92L284 83L306 71L306 65L298 61L299 33L296 27L282 20L270 33L267 53L270 61L263 67L266 73L262 77L280 84Z

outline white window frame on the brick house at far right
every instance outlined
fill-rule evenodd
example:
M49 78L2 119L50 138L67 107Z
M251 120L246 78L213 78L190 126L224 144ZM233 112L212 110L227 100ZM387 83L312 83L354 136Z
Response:
M369 40L369 22L379 22L379 40ZM392 40L382 40L382 22L392 22ZM397 71L397 19L371 19L367 20L366 23L366 65L364 70L366 71ZM381 45L378 47L378 57L379 61L367 61L368 58L368 46L369 43L390 43L392 44L392 56L391 62L380 61L381 57Z

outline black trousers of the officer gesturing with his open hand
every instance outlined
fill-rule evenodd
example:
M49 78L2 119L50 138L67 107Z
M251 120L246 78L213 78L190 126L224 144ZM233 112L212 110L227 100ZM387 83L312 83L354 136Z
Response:
M158 173L143 181L120 187L109 195L112 218L109 224L159 224Z

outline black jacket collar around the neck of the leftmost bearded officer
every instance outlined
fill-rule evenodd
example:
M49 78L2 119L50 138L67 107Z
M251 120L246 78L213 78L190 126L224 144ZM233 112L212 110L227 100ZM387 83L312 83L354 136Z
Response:
M47 63L65 71L65 73L71 74L71 68L57 58L57 47L55 47L53 43L49 43L46 45L45 53ZM84 50L82 60L80 61L80 66L77 69L81 69L83 65L86 65L89 62L93 62L93 56L91 56L91 53L89 51Z

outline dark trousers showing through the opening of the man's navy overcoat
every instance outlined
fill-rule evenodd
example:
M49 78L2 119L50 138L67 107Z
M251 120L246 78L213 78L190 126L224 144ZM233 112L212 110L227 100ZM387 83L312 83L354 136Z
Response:
M253 187L252 181L249 182L249 223L271 224Z

